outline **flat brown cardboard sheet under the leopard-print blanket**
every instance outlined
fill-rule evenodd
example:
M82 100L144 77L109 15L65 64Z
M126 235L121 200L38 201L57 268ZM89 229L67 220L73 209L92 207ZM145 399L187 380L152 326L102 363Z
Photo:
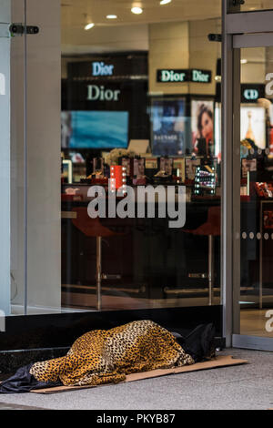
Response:
M198 370L208 370L208 369L217 369L218 367L227 367L229 365L238 365L238 364L246 364L247 360L238 360L232 358L231 355L227 356L218 356L215 360L211 360L209 362L197 362L193 365L186 365L184 367L176 367L174 369L158 369L152 370L150 372L139 372L132 373L126 376L126 381L124 382L133 382L133 381L142 381L144 379L155 378L159 376L167 376L168 374L177 374L184 372L197 372ZM106 383L109 385L113 383ZM100 385L102 386L102 385ZM82 390L85 388L96 388L95 386L56 386L54 388L44 388L40 390L32 390L31 392L35 393L57 393L57 392L66 392L66 391L75 391Z

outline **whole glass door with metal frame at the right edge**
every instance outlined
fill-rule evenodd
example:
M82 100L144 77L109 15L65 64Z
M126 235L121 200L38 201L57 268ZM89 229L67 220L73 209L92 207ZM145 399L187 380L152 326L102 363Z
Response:
M256 39L254 38L256 37ZM273 47L234 36L233 345L273 351Z

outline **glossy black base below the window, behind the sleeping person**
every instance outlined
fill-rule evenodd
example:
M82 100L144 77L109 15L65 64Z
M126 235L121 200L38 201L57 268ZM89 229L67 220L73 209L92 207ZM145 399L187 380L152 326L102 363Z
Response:
M225 347L221 305L13 315L6 317L5 332L0 332L0 372L14 372L30 362L63 356L72 343L87 331L108 330L136 320L152 320L182 335L198 324L213 322L217 329L217 346Z

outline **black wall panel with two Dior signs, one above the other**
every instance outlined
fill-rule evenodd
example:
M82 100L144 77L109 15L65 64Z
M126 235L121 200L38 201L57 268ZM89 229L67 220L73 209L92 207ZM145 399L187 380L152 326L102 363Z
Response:
M147 74L147 52L69 62L62 81L62 110L127 112L128 138L148 139Z

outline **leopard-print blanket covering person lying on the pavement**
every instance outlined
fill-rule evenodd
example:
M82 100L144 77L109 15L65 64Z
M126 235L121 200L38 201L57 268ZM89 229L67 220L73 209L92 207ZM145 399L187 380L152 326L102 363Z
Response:
M41 382L99 385L122 382L126 374L194 364L176 338L154 321L133 321L109 331L89 331L66 356L35 362L30 373Z

